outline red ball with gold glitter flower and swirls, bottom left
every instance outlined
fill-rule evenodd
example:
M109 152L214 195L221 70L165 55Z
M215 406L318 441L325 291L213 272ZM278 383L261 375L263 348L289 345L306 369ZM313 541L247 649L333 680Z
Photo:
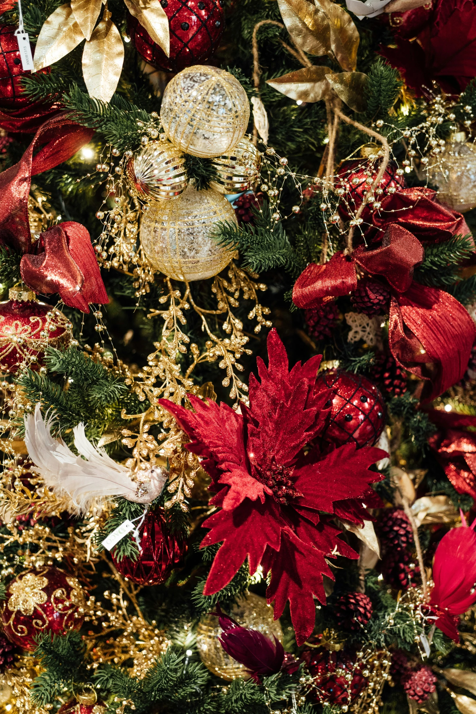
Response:
M83 624L84 595L77 578L59 568L25 570L11 580L1 622L11 642L34 650L39 633L64 635Z

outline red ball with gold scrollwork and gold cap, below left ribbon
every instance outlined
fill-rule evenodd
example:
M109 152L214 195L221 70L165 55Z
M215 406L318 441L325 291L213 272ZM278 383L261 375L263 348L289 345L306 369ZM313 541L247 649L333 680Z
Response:
M66 346L70 333L64 314L33 292L11 288L9 298L0 303L0 370L14 373L24 361L41 366L46 348Z

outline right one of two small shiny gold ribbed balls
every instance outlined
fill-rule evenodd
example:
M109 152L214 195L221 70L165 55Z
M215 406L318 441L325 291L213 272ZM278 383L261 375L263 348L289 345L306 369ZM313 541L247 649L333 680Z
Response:
M244 137L228 154L213 159L212 164L215 177L211 187L218 193L241 193L248 191L258 179L261 154L253 142Z

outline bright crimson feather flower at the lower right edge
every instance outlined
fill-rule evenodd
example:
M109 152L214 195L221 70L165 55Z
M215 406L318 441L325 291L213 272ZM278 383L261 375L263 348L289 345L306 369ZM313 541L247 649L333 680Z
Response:
M468 528L462 516L462 527L452 528L443 535L433 564L435 587L430 597L430 608L437 615L437 628L456 643L460 641L457 615L465 613L476 600L475 525L476 520Z

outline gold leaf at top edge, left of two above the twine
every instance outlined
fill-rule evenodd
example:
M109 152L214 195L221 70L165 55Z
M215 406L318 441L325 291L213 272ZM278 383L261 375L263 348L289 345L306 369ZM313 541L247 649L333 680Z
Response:
M299 49L316 56L330 52L330 24L320 8L306 0L278 0L278 6Z

